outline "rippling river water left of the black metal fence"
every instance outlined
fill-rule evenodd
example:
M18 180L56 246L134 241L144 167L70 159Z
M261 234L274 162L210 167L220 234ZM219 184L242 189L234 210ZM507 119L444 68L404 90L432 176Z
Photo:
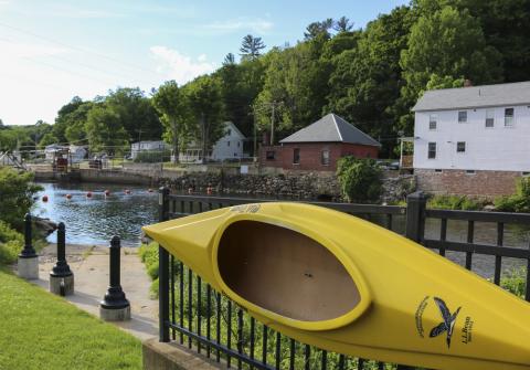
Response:
M95 183L40 183L34 213L66 225L66 242L72 244L107 245L113 235L121 237L123 245L139 245L140 228L158 220L156 192L146 187ZM130 194L125 193L130 190ZM105 190L110 194L105 195ZM86 193L91 191L92 198ZM46 194L49 201L42 202ZM66 194L72 198L67 199ZM49 236L56 241L56 233Z

